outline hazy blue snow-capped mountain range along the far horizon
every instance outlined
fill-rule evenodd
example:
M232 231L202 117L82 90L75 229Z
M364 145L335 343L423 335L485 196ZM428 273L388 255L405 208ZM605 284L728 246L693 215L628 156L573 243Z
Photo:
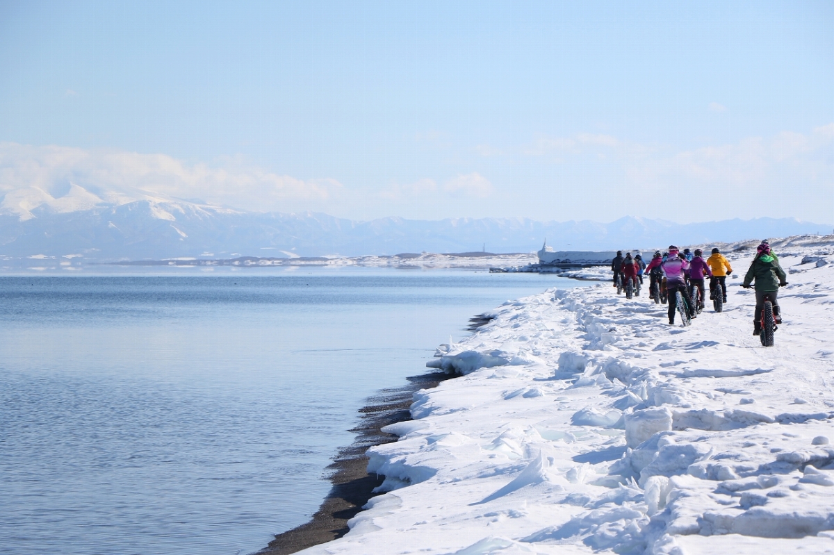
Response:
M141 192L96 194L76 184L60 196L35 187L15 189L0 201L0 255L7 257L360 256L482 249L530 253L545 238L557 250L610 250L830 231L830 224L795 218L689 224L635 217L612 223L528 218L356 222L323 213L246 212Z

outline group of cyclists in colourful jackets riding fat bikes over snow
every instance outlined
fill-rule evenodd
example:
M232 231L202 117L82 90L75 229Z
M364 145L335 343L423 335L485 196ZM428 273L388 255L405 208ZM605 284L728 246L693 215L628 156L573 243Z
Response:
M666 253L655 251L651 261L646 264L640 253L633 257L631 253L617 251L617 256L611 261L611 271L614 273L614 287L628 283L643 283L643 276L649 275L650 291L659 292L664 303L669 305L669 323L675 323L675 313L678 311L678 299L684 307L681 313L689 318L697 318L703 308L702 299L706 293L705 279L710 278L710 299L716 304L716 309L727 302L726 277L732 273L732 267L718 248L713 248L709 258L703 258L703 251L696 248L694 252L685 248L683 253L675 245L670 245ZM785 287L786 274L779 265L779 258L771 250L766 240L756 248L756 258L750 265L741 284L744 288L751 288L756 283L756 314L753 319L753 335L761 333L761 311L766 300L771 301L776 323L781 323L779 304L776 293L780 287ZM639 285L637 289L639 295ZM677 295L676 293L681 293ZM619 290L618 290L619 293ZM698 299L701 300L698 300Z

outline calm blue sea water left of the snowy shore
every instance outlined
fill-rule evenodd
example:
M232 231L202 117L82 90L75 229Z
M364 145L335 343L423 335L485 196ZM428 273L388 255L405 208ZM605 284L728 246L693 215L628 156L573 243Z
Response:
M364 398L476 313L580 285L254 272L0 278L0 552L265 547L319 506Z

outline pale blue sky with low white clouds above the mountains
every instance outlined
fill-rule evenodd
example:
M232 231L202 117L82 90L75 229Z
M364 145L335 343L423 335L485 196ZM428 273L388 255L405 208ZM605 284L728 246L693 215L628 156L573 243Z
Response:
M0 0L0 194L834 222L834 2ZM58 193L56 193L58 192Z

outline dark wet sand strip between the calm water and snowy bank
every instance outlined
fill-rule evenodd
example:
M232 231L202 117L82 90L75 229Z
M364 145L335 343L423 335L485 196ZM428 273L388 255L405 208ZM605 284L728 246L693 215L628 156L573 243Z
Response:
M397 441L397 436L384 433L381 428L411 419L409 407L415 391L435 388L453 377L442 372L412 376L407 378L408 385L383 389L369 398L368 404L359 409L362 413L359 426L350 430L357 434L354 443L339 449L334 462L328 466L332 471L329 479L333 487L319 510L309 522L276 535L257 555L294 553L344 536L349 531L348 520L374 497L372 490L383 482L383 476L367 472L368 458L365 457L365 452L374 445Z

